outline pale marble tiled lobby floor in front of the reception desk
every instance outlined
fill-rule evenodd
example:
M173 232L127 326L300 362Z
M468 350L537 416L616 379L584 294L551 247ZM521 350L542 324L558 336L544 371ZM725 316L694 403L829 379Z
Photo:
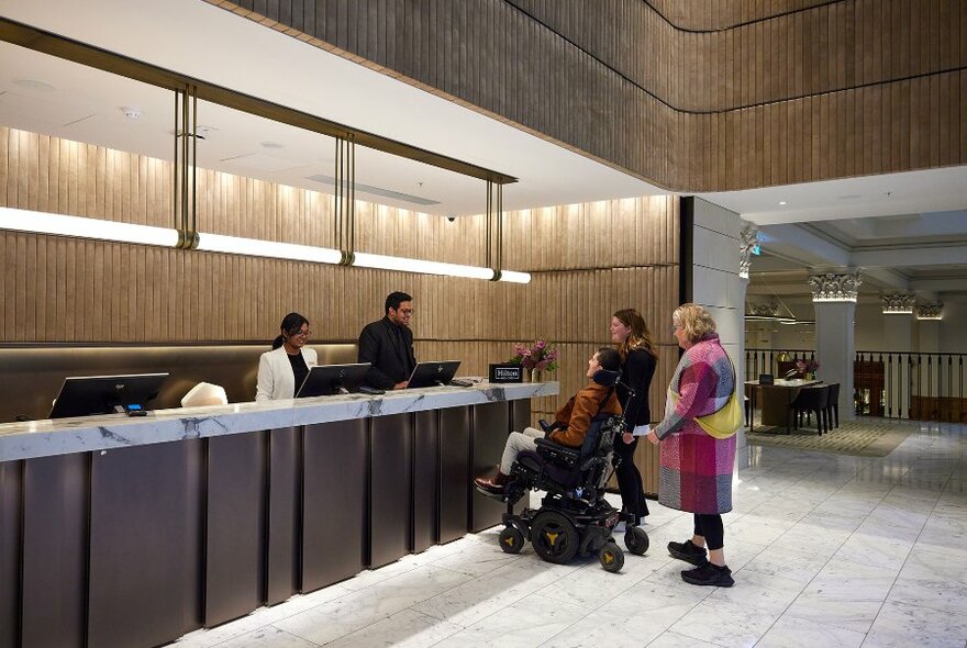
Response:
M883 458L753 446L740 463L732 589L681 581L665 546L691 516L653 502L652 547L619 574L503 554L494 528L174 646L967 646L967 425L921 424Z

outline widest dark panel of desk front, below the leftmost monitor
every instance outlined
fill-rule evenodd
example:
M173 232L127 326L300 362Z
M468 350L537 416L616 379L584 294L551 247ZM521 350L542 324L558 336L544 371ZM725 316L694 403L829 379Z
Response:
M202 455L202 442L178 442L92 457L88 646L156 646L192 629L202 578L189 473Z

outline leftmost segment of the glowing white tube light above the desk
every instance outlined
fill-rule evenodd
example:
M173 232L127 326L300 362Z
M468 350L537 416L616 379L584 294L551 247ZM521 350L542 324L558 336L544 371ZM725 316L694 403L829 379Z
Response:
M165 247L178 245L178 231L169 227L136 225L134 223L120 223L81 216L65 216L63 214L19 210L8 206L0 208L0 230L30 232L32 234L53 234L55 236L76 236L115 243L160 245Z

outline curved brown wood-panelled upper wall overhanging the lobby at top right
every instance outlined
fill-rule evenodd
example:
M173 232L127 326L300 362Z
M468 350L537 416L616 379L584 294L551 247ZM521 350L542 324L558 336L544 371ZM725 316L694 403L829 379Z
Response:
M967 163L963 0L208 0L679 191Z

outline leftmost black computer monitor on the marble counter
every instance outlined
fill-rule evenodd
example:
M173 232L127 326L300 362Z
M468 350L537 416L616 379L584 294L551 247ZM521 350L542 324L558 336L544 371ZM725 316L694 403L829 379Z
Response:
M66 378L49 417L113 414L119 405L129 412L144 411L158 395L167 377L167 373L135 373Z

